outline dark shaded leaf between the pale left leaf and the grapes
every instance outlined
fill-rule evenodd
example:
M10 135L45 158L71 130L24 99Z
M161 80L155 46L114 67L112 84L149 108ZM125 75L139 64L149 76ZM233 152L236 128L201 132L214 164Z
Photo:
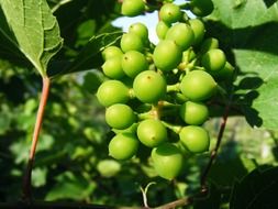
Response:
M113 32L102 33L91 37L81 52L69 64L53 64L49 68L49 76L60 76L100 67L103 63L101 52L107 46L115 44L120 40L121 35L122 32Z

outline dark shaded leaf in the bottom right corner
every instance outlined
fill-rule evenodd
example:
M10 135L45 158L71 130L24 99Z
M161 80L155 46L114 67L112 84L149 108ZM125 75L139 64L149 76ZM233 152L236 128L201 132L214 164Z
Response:
M278 167L259 167L234 186L231 209L277 208Z

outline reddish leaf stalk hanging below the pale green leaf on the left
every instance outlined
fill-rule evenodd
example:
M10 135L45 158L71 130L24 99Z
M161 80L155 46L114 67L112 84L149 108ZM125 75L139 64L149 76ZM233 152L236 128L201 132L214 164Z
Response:
M33 164L34 164L35 151L36 151L36 145L38 141L40 130L43 123L43 116L44 116L44 110L45 110L45 106L48 98L49 87L51 87L51 79L48 77L43 77L42 96L41 96L40 106L37 109L36 122L35 122L35 128L33 131L33 138L32 138L30 154L29 154L26 172L23 178L23 189L22 189L23 200L26 200L29 202L31 202L31 199L32 199L31 179L32 179L32 169L33 169Z

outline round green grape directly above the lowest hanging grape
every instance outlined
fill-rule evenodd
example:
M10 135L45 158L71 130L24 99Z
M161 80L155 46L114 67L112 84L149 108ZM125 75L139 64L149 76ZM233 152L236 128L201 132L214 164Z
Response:
M148 147L155 147L167 140L167 130L159 120L146 119L137 128L138 140Z

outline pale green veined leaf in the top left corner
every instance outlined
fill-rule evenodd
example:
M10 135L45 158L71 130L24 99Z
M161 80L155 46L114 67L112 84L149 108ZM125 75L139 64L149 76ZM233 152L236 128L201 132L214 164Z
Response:
M45 77L49 59L60 50L59 26L45 0L0 1L0 33Z

